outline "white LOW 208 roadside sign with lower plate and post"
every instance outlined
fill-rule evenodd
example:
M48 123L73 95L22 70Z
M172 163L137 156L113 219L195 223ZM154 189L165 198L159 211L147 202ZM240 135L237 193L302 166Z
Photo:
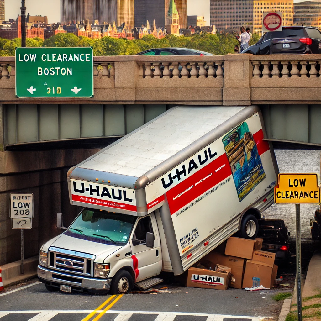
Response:
M31 229L33 219L33 194L32 193L10 193L10 218L11 227L20 229L20 255L21 274L23 269L23 229Z

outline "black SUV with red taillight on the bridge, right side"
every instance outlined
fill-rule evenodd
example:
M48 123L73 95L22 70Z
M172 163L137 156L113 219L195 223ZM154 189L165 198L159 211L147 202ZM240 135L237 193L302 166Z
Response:
M289 26L282 31L268 31L242 54L319 54L321 33L312 27Z

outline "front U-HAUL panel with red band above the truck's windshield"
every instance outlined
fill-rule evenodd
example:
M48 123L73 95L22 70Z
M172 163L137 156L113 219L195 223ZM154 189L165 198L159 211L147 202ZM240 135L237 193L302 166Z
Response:
M128 211L136 211L134 190L95 184L71 179L72 200L75 202L113 207Z

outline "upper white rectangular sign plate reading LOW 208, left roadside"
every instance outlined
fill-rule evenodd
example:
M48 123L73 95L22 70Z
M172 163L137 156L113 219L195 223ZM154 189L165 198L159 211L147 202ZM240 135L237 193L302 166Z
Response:
M10 218L33 219L33 193L10 193Z

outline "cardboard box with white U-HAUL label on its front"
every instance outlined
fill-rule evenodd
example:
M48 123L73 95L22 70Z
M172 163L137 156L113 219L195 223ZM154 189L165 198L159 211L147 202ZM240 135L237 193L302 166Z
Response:
M226 290L231 273L220 273L207 269L190 267L187 274L186 286L190 288Z

